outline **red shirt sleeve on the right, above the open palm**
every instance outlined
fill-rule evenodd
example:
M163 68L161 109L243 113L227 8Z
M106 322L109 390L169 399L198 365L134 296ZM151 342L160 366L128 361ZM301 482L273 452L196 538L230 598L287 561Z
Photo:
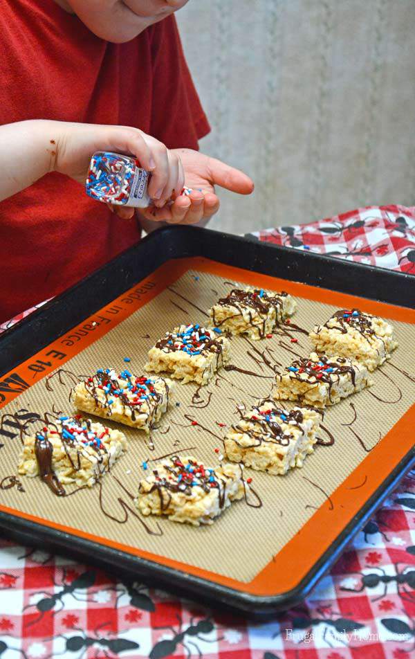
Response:
M192 76L187 67L175 17L154 26L153 96L150 134L169 149L198 149L210 132Z

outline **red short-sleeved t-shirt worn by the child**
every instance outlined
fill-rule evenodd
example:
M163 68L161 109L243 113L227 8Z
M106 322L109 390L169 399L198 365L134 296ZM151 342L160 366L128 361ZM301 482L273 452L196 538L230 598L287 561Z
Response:
M53 0L0 0L0 62L0 124L127 125L167 147L193 149L209 132L173 16L111 44ZM0 321L73 285L139 237L137 222L119 219L62 174L1 201Z

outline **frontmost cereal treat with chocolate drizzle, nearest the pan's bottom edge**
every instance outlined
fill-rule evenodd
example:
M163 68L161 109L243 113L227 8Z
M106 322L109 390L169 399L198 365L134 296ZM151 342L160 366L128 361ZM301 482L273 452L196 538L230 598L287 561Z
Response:
M212 524L243 492L239 465L212 469L191 456L174 456L140 480L136 505L143 515L167 515L173 522L199 526Z

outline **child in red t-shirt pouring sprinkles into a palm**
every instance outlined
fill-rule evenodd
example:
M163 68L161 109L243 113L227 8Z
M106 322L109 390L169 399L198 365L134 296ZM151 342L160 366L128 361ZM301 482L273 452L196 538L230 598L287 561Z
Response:
M156 215L140 220L208 218L215 183L252 192L245 174L196 151L209 125L172 15L185 3L0 0L0 321L139 239L136 220L79 185L95 150L132 153L153 171ZM203 192L165 206L183 181Z

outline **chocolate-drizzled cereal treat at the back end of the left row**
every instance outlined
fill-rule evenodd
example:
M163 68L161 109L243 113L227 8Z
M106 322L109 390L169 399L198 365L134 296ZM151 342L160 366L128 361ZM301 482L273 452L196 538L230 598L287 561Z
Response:
M232 289L209 309L212 324L232 334L248 334L255 340L264 338L295 312L297 303L291 295L270 293L247 287Z

